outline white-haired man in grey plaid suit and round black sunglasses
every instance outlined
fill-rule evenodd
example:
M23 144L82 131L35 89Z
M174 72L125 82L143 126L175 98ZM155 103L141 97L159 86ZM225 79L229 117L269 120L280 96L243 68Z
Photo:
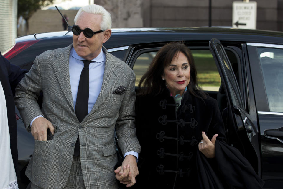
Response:
M119 181L132 186L141 150L134 125L134 71L102 46L111 36L111 17L102 6L81 8L72 31L73 44L37 56L16 89L17 108L35 139L26 170L31 188L112 189ZM85 60L93 62L86 66ZM85 67L88 110L80 121L76 102ZM41 91L42 108L36 102ZM114 172L115 129L124 161Z

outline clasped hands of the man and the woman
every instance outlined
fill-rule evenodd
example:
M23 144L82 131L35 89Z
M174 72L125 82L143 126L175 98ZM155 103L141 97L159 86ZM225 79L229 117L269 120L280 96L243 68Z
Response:
M136 183L136 175L139 174L136 157L126 155L122 166L118 167L114 172L116 179L120 180L120 183L126 184L127 187L133 186Z

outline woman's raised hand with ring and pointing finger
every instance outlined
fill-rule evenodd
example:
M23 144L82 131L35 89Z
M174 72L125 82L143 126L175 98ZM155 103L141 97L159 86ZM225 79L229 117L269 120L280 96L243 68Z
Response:
M218 134L213 135L211 141L206 136L205 132L202 132L203 140L198 143L198 149L205 155L207 158L215 157L215 141Z

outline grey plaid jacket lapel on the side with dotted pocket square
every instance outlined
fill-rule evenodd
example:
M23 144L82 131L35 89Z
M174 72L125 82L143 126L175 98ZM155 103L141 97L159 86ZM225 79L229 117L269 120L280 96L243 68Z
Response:
M118 69L119 63L111 59L111 56L109 56L109 53L107 52L106 48L102 47L102 49L105 52L106 56L101 91L97 97L96 103L94 104L89 114L93 113L102 104L102 102L104 102L108 94L114 91L114 86L118 82L119 76L121 74Z

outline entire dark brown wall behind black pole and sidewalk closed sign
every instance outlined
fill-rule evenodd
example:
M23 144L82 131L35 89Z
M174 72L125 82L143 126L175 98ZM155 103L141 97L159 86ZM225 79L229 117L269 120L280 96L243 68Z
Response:
M232 3L211 0L211 25L232 26ZM240 0L239 0L240 1ZM257 2L257 29L283 31L283 0ZM209 25L209 0L143 0L144 27Z

